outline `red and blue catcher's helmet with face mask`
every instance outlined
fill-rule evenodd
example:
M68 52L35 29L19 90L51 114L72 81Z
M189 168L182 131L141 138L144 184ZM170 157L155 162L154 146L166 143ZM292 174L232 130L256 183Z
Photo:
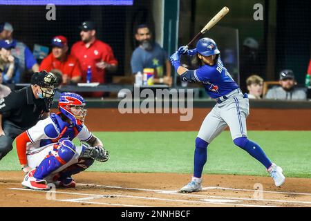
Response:
M84 109L85 100L81 95L76 93L64 92L59 97L58 108L61 113L68 117L73 124L81 126L86 116Z

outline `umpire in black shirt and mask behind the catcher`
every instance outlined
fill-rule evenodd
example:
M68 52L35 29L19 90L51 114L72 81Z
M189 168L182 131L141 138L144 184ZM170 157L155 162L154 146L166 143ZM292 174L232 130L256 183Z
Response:
M42 70L32 75L30 86L0 99L0 160L18 135L48 117L57 86L57 77Z

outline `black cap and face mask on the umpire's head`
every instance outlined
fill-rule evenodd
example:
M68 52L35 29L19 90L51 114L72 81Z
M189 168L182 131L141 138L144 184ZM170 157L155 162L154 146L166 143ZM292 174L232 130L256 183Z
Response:
M56 88L59 86L57 77L53 73L46 72L46 70L34 73L30 83L32 85L37 84L42 91L42 96L48 99L53 98Z

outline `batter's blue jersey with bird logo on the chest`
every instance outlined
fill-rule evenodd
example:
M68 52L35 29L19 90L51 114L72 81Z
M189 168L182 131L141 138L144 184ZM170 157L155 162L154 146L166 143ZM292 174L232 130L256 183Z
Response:
M232 90L238 88L238 84L232 79L227 68L223 66L223 61L221 61L220 57L218 57L214 66L205 64L194 70L194 77L196 77L197 81L202 82L206 93L211 98L227 95L232 92Z

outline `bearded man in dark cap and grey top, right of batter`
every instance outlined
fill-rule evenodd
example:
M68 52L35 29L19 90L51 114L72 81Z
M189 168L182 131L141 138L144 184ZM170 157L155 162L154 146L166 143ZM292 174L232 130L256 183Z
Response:
M282 70L280 73L279 84L276 88L267 91L267 99L290 99L305 100L307 94L305 88L296 88L296 81L292 70Z

